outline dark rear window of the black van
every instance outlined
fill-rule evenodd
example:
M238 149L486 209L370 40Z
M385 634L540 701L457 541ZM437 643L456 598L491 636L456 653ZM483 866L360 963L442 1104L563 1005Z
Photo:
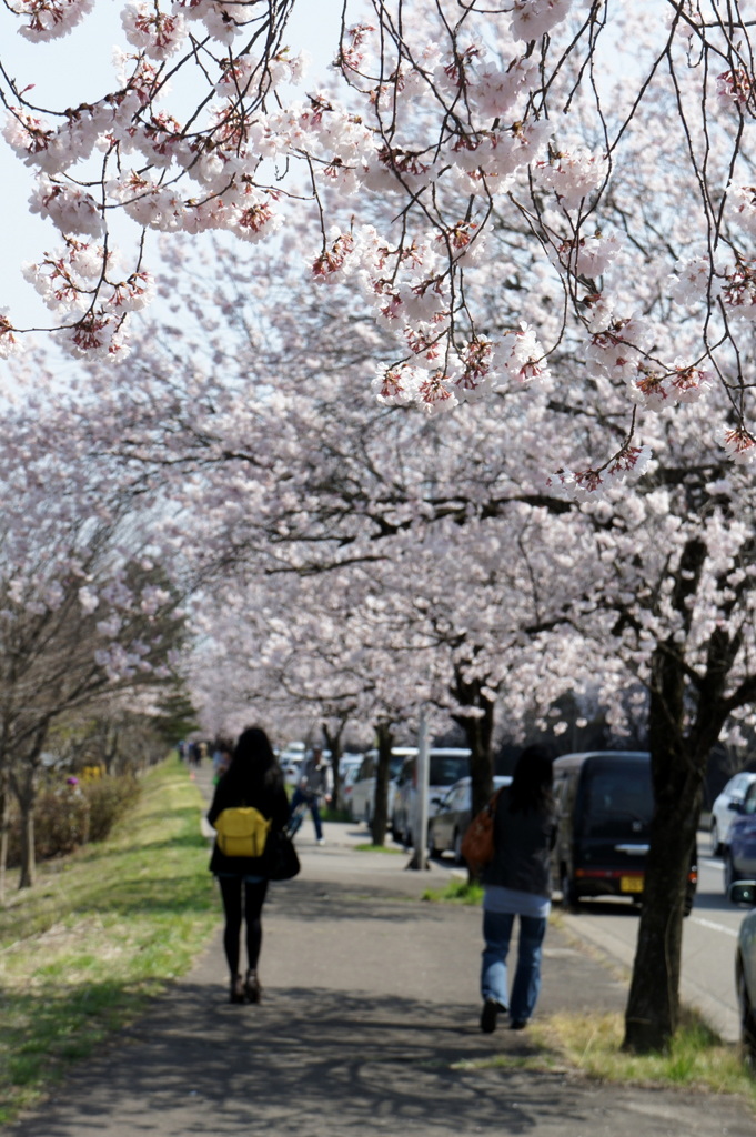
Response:
M598 769L587 779L584 831L593 837L638 836L651 820L654 796L648 766Z

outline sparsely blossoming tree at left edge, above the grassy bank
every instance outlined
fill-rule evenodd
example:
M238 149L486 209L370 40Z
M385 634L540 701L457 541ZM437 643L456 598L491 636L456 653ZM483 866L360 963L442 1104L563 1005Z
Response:
M155 561L139 495L72 451L49 450L35 397L3 414L0 484L0 878L9 791L24 831L20 886L34 882L34 806L51 725L106 691L172 675L183 617ZM69 439L69 443L73 439Z

